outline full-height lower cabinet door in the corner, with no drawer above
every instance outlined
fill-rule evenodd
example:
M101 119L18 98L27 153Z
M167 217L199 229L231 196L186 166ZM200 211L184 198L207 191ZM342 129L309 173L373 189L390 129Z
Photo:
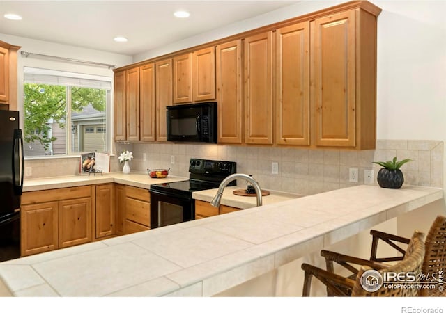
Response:
M114 204L114 184L96 186L96 238L115 234Z

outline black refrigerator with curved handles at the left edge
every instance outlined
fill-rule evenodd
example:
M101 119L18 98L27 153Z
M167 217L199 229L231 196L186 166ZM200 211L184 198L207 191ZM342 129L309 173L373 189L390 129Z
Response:
M19 113L0 110L0 262L20 257L20 195L24 176Z

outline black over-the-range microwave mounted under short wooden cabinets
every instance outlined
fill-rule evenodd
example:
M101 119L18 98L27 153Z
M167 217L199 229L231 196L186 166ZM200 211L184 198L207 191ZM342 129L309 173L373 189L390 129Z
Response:
M217 102L167 106L167 140L217 143Z

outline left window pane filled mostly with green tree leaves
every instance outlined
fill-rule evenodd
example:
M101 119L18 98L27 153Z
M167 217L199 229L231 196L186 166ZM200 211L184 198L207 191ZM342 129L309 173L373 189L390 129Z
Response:
M24 154L66 154L66 87L24 83Z

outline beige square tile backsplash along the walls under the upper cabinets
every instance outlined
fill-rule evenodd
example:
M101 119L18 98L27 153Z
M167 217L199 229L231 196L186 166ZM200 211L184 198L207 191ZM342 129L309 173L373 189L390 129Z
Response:
M364 170L374 170L374 182L380 166L373 161L414 159L403 170L405 184L443 188L443 141L378 140L376 150L310 150L299 147L247 147L236 145L200 145L174 143L116 143L116 151L129 150L134 159L132 172L147 168L171 168L171 175L188 177L190 158L236 161L238 172L253 175L262 188L311 195L364 184ZM118 153L117 153L118 154ZM146 161L143 161L146 154ZM171 163L174 159L174 163ZM279 166L272 174L272 162ZM32 167L27 178L76 175L79 157L28 159ZM112 172L121 170L117 157L111 159ZM358 169L358 182L349 182L349 168ZM245 182L238 182L245 186Z

